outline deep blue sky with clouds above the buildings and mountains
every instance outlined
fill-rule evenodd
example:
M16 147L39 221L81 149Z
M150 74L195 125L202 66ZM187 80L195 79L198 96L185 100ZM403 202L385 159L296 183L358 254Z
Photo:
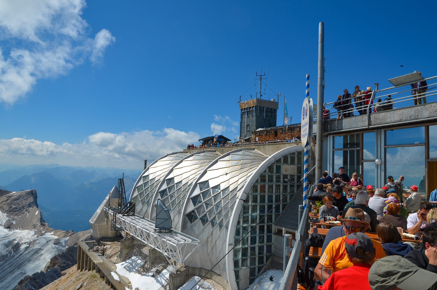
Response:
M0 3L9 16L0 23L4 60L14 49L47 49L11 33L15 27L33 29L53 50L67 41L74 51L66 65L36 62L29 72L34 81L0 88L3 162L134 168L220 128L234 139L236 101L260 67L270 70L267 85L286 96L291 122L298 123L305 74L310 96L317 96L319 21L325 23L325 102L355 85L384 88L388 78L415 70L437 74L435 1L420 7L406 1L47 2L49 8L29 15L52 11L49 29L17 21L25 15ZM57 2L83 13L59 17L65 15L53 8ZM63 27L58 22L68 27L78 19L86 21L79 40L56 32ZM25 70L11 66L18 74ZM0 76L0 85L6 81Z

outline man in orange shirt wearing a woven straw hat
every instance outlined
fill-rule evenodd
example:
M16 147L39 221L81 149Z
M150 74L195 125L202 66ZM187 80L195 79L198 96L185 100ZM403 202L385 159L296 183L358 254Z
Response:
M351 267L353 264L346 255L346 248L344 248L344 240L351 233L364 233L369 228L369 223L366 222L364 211L362 209L347 209L346 216L341 219L343 222L343 231L345 236L332 240L320 257L319 263L314 270L314 279L322 280L322 275L328 279L327 273L322 273L322 266L331 266L333 272L341 269ZM384 249L378 241L372 240L375 247L375 261L376 259L385 257ZM326 280L325 279L325 280Z

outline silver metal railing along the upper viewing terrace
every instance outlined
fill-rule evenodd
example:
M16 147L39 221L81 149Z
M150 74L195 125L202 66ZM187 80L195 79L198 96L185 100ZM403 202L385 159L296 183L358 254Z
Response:
M430 81L426 86L419 88L412 88L411 85L420 81ZM329 111L329 115L324 114L324 119L342 119L352 116L369 115L371 113L378 113L386 110L398 109L407 106L414 106L423 103L432 103L437 101L437 76L431 78L425 78L420 81L413 81L407 84L394 86L390 88L378 89L379 84L375 83L375 89L366 94L358 95L357 97L351 97L347 99L340 99L342 103L339 104L338 100L325 103L325 110ZM426 92L418 95L413 95L413 91L420 91L421 89L427 89ZM353 95L354 92L349 92ZM388 98L390 100L387 100ZM356 100L356 98L365 98L364 100ZM380 102L378 102L378 100ZM351 107L352 105L352 107ZM347 106L347 107L345 107ZM315 119L316 121L316 119Z

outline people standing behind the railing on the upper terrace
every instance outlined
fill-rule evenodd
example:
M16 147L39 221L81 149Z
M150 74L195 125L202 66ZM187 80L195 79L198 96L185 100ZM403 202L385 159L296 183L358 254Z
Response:
M414 71L420 75L420 71ZM411 84L411 95L413 97L414 105L426 104L426 92L428 90L427 81L422 80ZM369 107L370 103L370 107ZM360 86L356 85L352 94L347 88L343 90L343 95L338 95L337 100L333 103L333 108L337 110L337 119L354 116L355 111L359 115L367 114L368 108L370 112L380 112L393 109L392 95L388 95L385 99L378 99L375 103L372 99L372 88L367 87L366 90L360 90ZM331 112L324 109L323 120L328 120Z

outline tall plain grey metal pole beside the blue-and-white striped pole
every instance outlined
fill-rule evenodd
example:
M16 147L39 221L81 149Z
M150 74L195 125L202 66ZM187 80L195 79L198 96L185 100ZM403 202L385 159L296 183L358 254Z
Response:
M319 70L317 74L316 182L322 178L323 90L325 89L325 24L319 23Z

